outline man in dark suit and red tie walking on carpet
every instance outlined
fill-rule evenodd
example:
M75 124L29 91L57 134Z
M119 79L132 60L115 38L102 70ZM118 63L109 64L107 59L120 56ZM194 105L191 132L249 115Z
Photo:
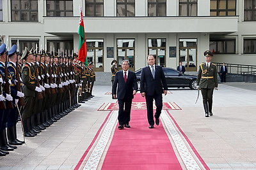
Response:
M112 89L113 97L116 98L117 88L117 99L119 104L118 129L131 127L129 122L131 120L132 99L138 90L136 74L129 71L129 60L122 60L122 69L123 70L116 72Z

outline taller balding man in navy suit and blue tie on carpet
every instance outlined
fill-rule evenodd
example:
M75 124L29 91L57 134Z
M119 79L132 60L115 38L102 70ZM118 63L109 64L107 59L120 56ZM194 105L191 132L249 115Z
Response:
M159 125L159 117L163 108L163 96L167 94L167 83L163 68L155 65L153 55L147 57L148 66L141 70L140 92L142 97L146 97L147 118L149 128L154 128L154 117L156 125ZM156 113L153 117L153 100L156 102Z

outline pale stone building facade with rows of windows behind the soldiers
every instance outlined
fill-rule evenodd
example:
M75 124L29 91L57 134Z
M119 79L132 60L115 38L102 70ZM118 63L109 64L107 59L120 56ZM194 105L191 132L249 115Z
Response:
M149 53L158 65L196 71L205 50L213 62L256 63L253 0L0 0L0 43L77 52L79 6L96 71L109 72L113 59L138 70Z

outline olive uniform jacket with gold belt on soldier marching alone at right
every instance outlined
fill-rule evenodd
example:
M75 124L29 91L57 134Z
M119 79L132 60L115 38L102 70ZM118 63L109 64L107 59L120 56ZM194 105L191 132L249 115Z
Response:
M217 66L211 62L209 68L205 62L200 64L197 75L199 88L214 89L218 87Z

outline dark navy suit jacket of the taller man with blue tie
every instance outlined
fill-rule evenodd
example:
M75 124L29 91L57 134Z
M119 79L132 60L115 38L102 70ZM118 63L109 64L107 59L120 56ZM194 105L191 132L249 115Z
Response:
M147 96L154 96L156 94L163 94L163 90L168 90L163 68L155 66L155 79L152 76L149 66L143 67L140 78L140 92L145 92Z

